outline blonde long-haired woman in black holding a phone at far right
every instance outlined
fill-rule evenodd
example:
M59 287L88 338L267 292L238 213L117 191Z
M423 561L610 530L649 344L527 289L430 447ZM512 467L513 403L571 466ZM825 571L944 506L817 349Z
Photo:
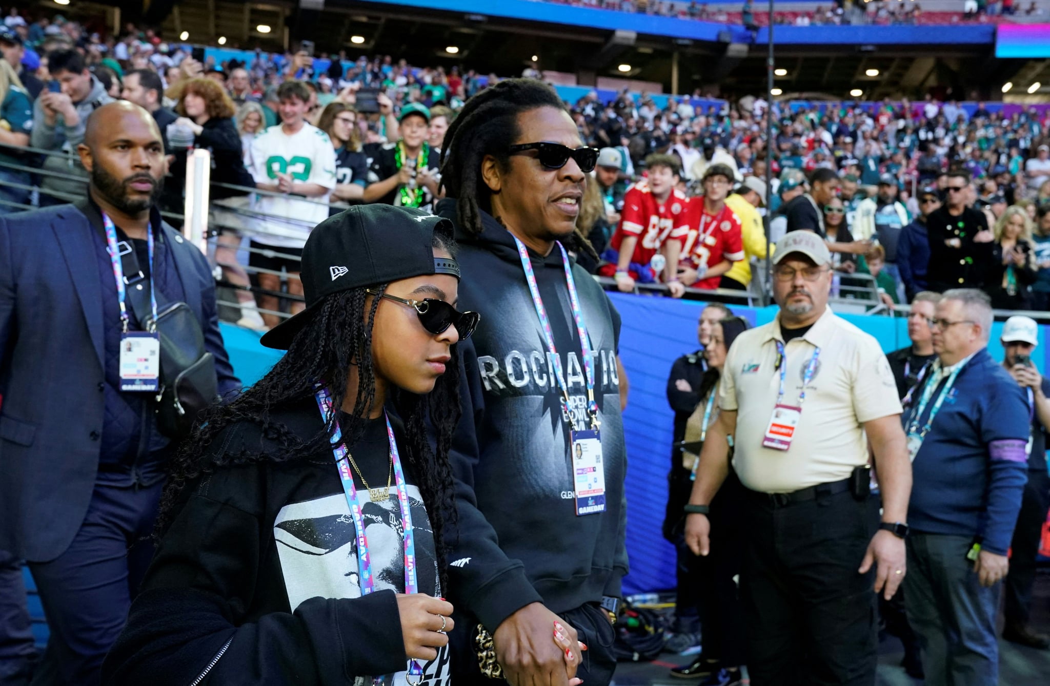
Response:
M1016 205L1006 209L995 222L985 290L996 309L1031 309L1035 282L1035 250L1032 220Z

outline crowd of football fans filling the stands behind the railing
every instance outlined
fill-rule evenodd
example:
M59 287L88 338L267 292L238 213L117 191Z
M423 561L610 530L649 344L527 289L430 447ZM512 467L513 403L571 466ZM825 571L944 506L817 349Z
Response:
M104 37L61 16L17 17L0 28L0 211L75 196L84 174L70 153L86 116L111 99L142 105L165 137L166 210L182 211L188 152L211 151L212 224L224 234L215 258L237 294L238 321L255 328L300 306L280 295L301 295L297 259L316 221L362 202L433 207L443 194L444 132L467 99L499 81L344 52L318 56L316 69L306 51L216 64L152 29ZM538 77L536 65L523 76ZM600 150L595 183L580 199L579 229L593 246L581 261L620 290L748 288L751 263L765 257L770 213L774 242L796 229L825 237L843 294L868 274L886 305L928 287L972 286L996 307L1050 306L1046 108L1007 113L930 94L774 101L770 154L764 99L706 110L689 98L666 102L625 90L608 103L591 91L568 104ZM954 238L942 248L945 231Z

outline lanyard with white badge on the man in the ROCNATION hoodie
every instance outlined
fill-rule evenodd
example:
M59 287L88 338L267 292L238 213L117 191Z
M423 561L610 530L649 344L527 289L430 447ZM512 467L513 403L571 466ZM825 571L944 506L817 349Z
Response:
M590 337L587 335L587 327L584 326L584 313L580 306L580 298L576 295L576 283L572 278L572 266L569 263L569 256L561 242L554 241L562 252L562 265L565 267L565 282L569 290L569 304L572 307L572 319L576 323L576 333L580 336L580 348L584 362L584 374L587 381L587 411L590 414L590 428L576 430L573 425L572 415L569 413L569 387L565 383L565 376L562 373L562 359L558 355L554 346L554 334L550 328L550 319L547 317L547 308L540 297L540 286L536 281L536 273L532 271L532 260L528 255L525 243L518 240L518 255L522 260L522 269L525 271L525 280L528 282L529 293L532 294L532 304L536 305L536 314L540 317L540 324L543 328L543 337L547 343L547 351L550 353L551 363L554 367L554 379L562 391L562 417L569 425L570 457L572 463L573 487L575 489L576 515L588 515L605 512L605 464L602 459L602 438L598 431L597 402L594 400L594 357L591 355Z

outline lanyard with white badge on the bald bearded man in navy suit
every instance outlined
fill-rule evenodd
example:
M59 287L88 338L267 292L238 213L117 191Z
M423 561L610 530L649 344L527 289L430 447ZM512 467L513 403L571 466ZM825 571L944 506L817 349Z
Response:
M151 330L129 331L128 322L131 318L124 303L128 281L121 262L117 227L105 213L102 214L102 223L106 228L106 252L109 253L109 262L113 267L117 301L121 306L121 390L155 391L160 387L161 379L161 339L156 335L156 292L153 290L153 282L156 280L153 272L153 228L146 228L146 249L149 253L149 304L153 310L153 323ZM139 322L140 325L143 323Z

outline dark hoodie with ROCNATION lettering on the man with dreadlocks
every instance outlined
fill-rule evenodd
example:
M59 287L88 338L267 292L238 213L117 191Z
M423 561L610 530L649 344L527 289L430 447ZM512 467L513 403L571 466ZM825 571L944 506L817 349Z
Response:
M438 213L456 221L455 200L442 200ZM593 346L606 486L606 511L576 516L569 431L521 258L510 233L488 214L482 218L480 235L459 227L456 234L463 271L458 308L481 313L481 324L460 345L463 420L452 454L459 532L449 540L448 575L453 603L494 631L531 602L561 613L603 595L620 597L627 574L627 456L616 372L620 315L573 262ZM582 423L585 376L561 251L532 254L532 266L571 411Z

